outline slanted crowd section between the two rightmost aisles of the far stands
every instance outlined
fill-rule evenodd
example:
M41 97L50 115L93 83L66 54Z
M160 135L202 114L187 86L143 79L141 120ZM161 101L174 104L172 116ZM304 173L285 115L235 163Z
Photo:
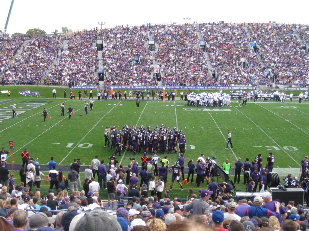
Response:
M261 45L260 55L272 69L278 83L302 85L308 82L309 57L300 49L292 25L249 23L252 39Z

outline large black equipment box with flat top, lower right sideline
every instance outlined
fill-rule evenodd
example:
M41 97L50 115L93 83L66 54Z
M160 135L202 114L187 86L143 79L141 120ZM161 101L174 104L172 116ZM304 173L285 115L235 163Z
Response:
M273 200L279 199L280 202L284 202L285 205L289 201L294 201L295 205L303 205L304 203L304 190L302 188L287 188L287 191L273 190L270 188Z

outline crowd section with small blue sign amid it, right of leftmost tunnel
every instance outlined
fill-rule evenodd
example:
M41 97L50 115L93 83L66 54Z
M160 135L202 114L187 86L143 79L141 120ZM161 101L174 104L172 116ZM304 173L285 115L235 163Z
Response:
M152 76L153 61L150 51L145 47L148 41L146 26L115 27L101 30L103 47L103 65L108 72L107 85L155 86ZM140 61L134 61L139 57Z

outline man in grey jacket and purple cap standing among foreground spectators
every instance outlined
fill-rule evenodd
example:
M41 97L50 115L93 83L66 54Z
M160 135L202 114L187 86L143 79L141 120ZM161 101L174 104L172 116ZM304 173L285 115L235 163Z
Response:
M208 200L211 197L211 194L213 194L213 191L209 191L207 189L204 189L201 192L201 198L200 199L196 199L193 202L191 202L190 204L186 205L184 207L186 212L189 212L190 209L193 209L193 214L197 214L197 215L206 215L206 217L208 217L209 219L209 214L210 214L210 205L208 204Z

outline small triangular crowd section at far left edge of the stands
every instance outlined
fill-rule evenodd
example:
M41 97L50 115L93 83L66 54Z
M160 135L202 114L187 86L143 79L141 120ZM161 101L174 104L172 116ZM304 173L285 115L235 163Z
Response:
M14 57L19 49L22 49L23 41L27 38L25 36L0 36L0 73L7 66L9 61Z

